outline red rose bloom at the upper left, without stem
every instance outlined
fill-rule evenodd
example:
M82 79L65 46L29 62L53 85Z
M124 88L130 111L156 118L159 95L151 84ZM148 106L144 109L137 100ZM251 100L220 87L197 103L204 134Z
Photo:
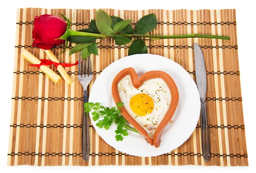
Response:
M61 37L67 30L67 23L65 20L44 14L40 17L35 17L33 36L33 47L49 50L53 46L65 43L65 40L57 39ZM55 40L57 39L57 40Z

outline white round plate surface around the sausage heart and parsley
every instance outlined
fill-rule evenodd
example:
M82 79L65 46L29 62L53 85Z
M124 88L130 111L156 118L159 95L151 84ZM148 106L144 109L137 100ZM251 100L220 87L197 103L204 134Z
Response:
M129 130L129 135L124 136L122 142L117 142L115 123L105 130L98 128L96 122L91 119L93 126L108 145L121 152L141 157L169 153L189 138L198 123L201 105L197 86L188 72L176 62L159 55L135 54L113 62L102 71L91 88L88 102L99 102L110 108L116 106L111 92L112 81L116 74L128 67L134 68L139 77L147 71L164 71L173 78L177 85L179 102L172 117L173 123L167 125L163 131L160 147L151 146L143 136ZM128 125L131 126L129 123Z

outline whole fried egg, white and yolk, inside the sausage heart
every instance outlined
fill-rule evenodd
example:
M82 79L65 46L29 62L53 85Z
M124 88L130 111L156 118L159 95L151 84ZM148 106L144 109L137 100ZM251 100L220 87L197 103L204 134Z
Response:
M128 113L153 137L171 103L171 93L163 79L149 79L134 88L130 75L118 84L118 91Z

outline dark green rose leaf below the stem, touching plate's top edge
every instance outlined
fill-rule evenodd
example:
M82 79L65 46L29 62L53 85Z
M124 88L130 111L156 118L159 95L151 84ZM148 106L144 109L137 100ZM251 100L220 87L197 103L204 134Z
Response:
M143 40L134 40L129 48L128 55L147 54L148 49Z

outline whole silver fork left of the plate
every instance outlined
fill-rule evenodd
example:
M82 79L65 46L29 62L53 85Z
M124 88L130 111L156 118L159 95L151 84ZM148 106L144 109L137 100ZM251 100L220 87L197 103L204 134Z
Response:
M81 63L82 62L82 63ZM81 73L82 72L82 73ZM93 78L92 64L90 57L86 60L81 60L81 51L79 52L79 63L78 63L78 79L84 88L84 102L87 102L87 86ZM89 134L89 116L84 111L83 107L83 126L82 126L82 153L85 162L89 160L90 156L90 134Z

